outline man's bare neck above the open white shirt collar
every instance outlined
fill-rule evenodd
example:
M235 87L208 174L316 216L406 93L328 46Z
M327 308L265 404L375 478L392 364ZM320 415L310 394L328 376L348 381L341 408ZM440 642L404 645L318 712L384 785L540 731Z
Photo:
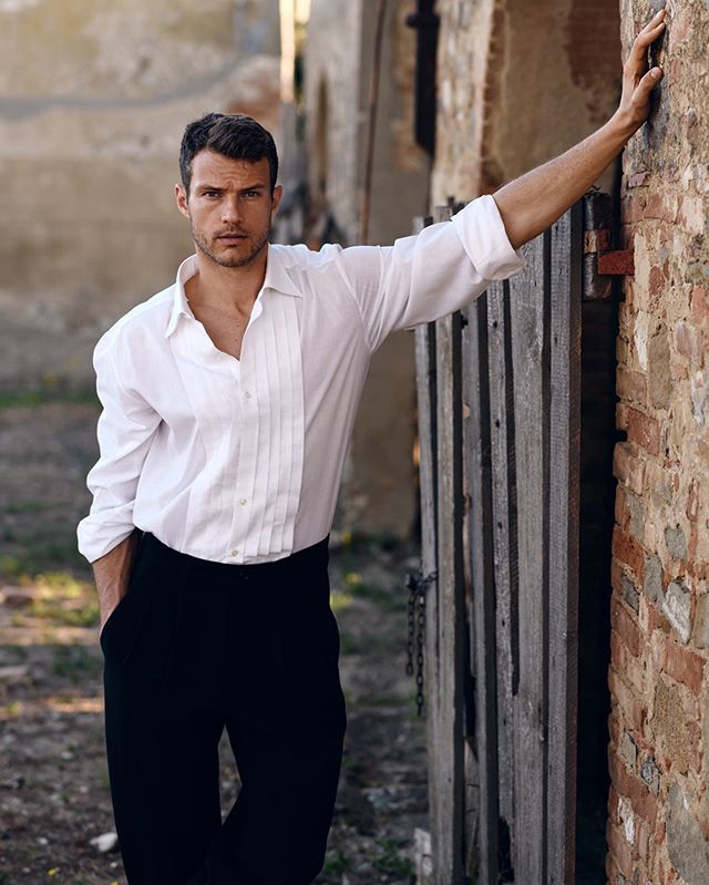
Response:
M250 311L266 277L268 246L247 265L224 267L197 249L199 272L187 280L187 298L225 310Z

